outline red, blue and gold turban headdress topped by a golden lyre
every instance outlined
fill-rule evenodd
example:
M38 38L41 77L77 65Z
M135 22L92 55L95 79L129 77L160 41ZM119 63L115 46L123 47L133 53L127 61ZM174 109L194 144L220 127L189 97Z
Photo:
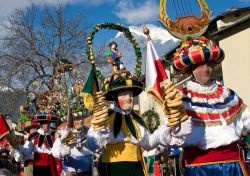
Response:
M210 41L202 35L206 32L209 25L210 11L205 0L196 0L201 8L201 16L185 15L176 18L173 22L167 12L167 0L160 0L160 22L167 28L170 34L181 40L181 46L176 49L173 56L174 67L178 70L186 70L190 66L212 61L215 64L221 63L224 59L224 51L216 43ZM174 6L191 8L189 0L173 1ZM185 5L189 3L188 5ZM186 9L186 12L192 10ZM181 14L181 13L180 13Z

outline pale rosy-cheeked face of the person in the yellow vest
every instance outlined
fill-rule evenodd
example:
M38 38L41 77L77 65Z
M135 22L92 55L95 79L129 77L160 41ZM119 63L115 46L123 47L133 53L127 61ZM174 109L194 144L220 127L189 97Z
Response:
M124 111L132 110L134 107L134 97L132 91L122 91L117 96L118 104Z

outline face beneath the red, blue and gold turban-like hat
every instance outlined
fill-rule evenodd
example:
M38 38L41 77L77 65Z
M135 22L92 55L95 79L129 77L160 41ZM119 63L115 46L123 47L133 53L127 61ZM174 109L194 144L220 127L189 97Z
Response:
M204 62L197 64L192 68L192 73L197 82L201 85L206 85L210 82L213 76L212 62Z

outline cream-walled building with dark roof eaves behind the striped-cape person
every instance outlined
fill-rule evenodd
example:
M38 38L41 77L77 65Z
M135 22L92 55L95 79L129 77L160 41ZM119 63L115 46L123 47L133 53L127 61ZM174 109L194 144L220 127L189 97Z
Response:
M207 35L225 52L223 83L250 106L250 7L233 8L215 17Z

